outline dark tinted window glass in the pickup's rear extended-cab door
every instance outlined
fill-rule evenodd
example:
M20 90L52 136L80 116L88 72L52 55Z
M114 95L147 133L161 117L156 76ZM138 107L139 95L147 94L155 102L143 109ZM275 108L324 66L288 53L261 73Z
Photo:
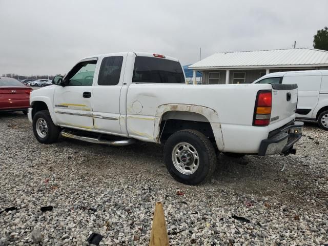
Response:
M115 86L119 82L123 63L123 56L105 57L101 62L98 85Z

